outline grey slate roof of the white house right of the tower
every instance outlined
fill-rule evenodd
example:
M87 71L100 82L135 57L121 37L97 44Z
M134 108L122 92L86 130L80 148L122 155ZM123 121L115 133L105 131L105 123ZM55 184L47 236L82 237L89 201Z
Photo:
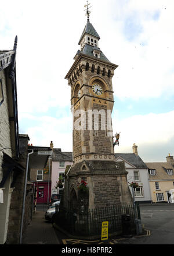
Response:
M127 162L133 164L137 168L147 168L146 164L143 162L143 160L134 153L116 153L115 157L121 156L123 159L125 159Z

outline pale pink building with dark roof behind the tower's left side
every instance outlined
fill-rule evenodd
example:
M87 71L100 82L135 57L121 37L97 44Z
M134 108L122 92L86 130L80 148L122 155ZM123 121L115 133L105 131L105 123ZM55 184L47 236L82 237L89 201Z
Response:
M55 189L57 182L61 180L64 185L64 172L66 166L73 164L72 152L61 152L61 149L53 149L52 155L52 191ZM54 193L52 193L54 194Z

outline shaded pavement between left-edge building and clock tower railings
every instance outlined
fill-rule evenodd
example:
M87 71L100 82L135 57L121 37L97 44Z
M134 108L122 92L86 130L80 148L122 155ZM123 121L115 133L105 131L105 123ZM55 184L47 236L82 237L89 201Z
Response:
M52 223L45 220L46 205L37 206L30 225L23 234L22 244L60 244Z

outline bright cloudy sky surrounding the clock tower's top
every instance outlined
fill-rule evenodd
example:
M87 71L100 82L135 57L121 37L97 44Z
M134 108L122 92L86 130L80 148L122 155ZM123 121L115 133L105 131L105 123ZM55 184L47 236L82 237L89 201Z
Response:
M144 162L174 155L173 0L90 0L99 47L113 76L115 153L138 146ZM17 35L19 132L34 146L73 151L70 86L64 79L86 25L85 0L0 0L0 49ZM2 8L3 7L3 8Z

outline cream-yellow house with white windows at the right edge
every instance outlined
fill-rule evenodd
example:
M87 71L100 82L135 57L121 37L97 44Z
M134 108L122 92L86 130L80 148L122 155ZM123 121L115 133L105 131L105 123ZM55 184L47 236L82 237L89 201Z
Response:
M146 163L150 183L151 198L154 203L174 202L174 161L167 156L166 162Z

